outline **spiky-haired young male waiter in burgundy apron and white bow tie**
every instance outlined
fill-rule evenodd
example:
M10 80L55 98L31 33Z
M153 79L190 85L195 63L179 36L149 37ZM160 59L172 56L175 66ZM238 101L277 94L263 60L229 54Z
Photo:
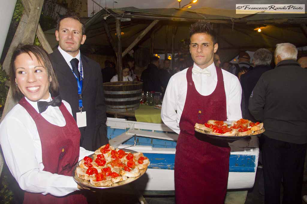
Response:
M212 25L190 27L194 65L173 75L162 103L163 122L179 134L175 156L176 203L222 204L227 190L230 147L198 135L195 123L239 120L241 86L236 76L214 66L218 49Z

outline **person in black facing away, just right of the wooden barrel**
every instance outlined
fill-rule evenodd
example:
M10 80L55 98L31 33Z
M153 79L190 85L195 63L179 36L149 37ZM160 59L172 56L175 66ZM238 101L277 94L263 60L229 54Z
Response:
M161 77L159 72L159 57L151 57L150 64L142 72L143 91L161 92Z

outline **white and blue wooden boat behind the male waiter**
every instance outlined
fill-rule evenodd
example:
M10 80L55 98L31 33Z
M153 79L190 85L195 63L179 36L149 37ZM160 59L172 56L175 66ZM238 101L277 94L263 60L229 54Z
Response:
M141 151L150 159L147 172L138 179L139 190L160 194L172 194L174 163L178 134L165 124L107 119L107 134L110 145ZM257 137L240 139L230 143L229 176L227 189L248 189L255 182L259 148ZM165 193L163 193L165 192Z

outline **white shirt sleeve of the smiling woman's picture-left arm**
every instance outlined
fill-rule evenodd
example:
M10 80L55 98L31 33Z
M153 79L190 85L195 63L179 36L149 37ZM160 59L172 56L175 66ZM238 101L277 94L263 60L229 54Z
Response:
M72 176L40 170L29 130L16 117L6 119L0 124L0 143L6 164L21 189L55 196L79 190Z

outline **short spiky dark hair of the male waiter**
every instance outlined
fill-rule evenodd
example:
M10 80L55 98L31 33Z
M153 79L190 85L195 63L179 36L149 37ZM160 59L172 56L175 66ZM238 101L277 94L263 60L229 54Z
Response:
M216 44L216 33L213 30L213 24L207 21L204 21L204 20L199 20L196 23L193 23L190 26L190 39L192 35L196 33L205 33L205 34L210 35L213 40L213 45Z

